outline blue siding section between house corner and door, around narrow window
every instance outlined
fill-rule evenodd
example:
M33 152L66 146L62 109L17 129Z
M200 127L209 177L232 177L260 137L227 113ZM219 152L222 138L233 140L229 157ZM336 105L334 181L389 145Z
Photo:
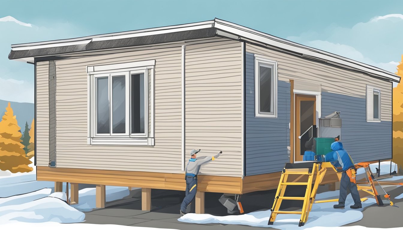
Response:
M289 82L278 81L277 118L255 117L254 56L246 53L246 176L281 171L289 162Z

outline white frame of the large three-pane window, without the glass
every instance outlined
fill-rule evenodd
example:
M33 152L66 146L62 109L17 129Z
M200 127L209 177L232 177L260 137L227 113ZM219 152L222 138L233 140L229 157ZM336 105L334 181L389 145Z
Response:
M155 60L129 62L120 64L110 64L102 66L87 66L87 145L154 145L154 66ZM131 108L132 108L132 90L131 75L144 75L144 133L131 133ZM150 76L149 76L150 74ZM112 79L113 77L125 76L125 128L126 133L113 132L113 93ZM109 119L110 133L97 133L97 86L96 79L100 77L108 77L108 100L109 100ZM150 78L150 79L149 79ZM149 83L151 82L151 88ZM150 92L151 90L151 92ZM150 93L150 95L149 95ZM149 115L151 113L151 117ZM150 118L151 119L150 119ZM150 120L149 120L150 119ZM151 123L150 123L151 122ZM151 126L151 130L149 129Z

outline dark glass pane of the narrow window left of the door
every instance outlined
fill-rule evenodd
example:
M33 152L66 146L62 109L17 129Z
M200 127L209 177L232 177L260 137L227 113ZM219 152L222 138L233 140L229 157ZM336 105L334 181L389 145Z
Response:
M272 68L259 66L260 112L273 112L272 108Z

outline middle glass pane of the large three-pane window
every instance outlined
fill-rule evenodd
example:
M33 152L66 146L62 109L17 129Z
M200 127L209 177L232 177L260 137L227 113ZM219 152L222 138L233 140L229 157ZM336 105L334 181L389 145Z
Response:
M112 131L126 133L125 76L112 77Z

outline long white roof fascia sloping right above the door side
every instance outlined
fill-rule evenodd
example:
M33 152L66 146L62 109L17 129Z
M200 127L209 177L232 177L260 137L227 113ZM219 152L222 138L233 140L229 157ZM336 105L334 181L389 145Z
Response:
M285 39L280 39L278 37L274 37L259 31L255 31L253 29L249 29L247 27L243 27L234 23L229 23L226 21L222 21L220 19L216 19L216 23L214 27L217 29L221 29L223 31L227 31L229 33L237 34L241 37L245 37L248 39L252 39L255 41L260 41L264 44L268 44L270 46L275 46L281 49L290 50L293 52L309 55L312 57L316 57L322 60L327 60L330 62L335 62L339 64L343 64L346 66L353 67L355 69L359 69L365 71L367 73L372 73L374 75L379 75L382 77L386 77L387 79L391 79L392 81L399 82L400 78L390 73L386 70L382 70L380 68L376 68L374 66L370 66L361 62L357 62L348 58L344 58L335 54L331 54L328 52L324 52L322 50L316 50L314 48L310 48L307 46L303 46Z

